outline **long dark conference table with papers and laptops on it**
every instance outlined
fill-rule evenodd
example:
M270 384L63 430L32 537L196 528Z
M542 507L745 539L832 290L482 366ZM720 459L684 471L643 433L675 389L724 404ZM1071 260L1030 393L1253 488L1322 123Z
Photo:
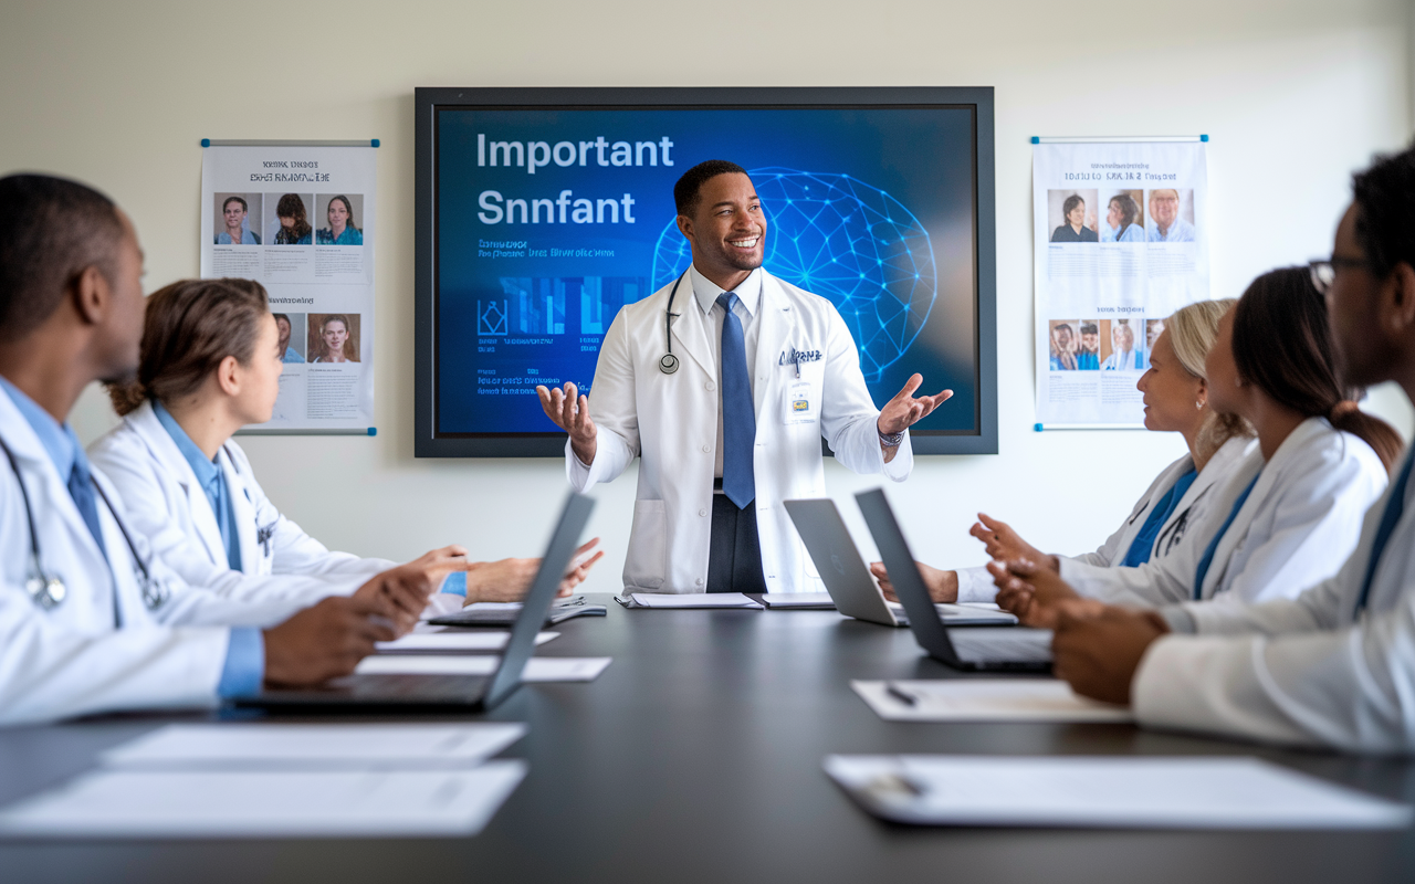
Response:
M591 683L516 690L475 720L524 721L502 757L529 775L464 839L0 842L0 880L158 881L1391 881L1404 832L911 827L880 822L821 768L832 752L1257 755L1415 802L1415 764L1146 731L1128 724L879 719L850 679L952 672L908 629L835 611L624 610L555 627L543 656L613 656ZM89 769L171 721L106 716L0 730L0 802ZM383 719L351 719L383 720ZM447 719L439 719L447 720Z

